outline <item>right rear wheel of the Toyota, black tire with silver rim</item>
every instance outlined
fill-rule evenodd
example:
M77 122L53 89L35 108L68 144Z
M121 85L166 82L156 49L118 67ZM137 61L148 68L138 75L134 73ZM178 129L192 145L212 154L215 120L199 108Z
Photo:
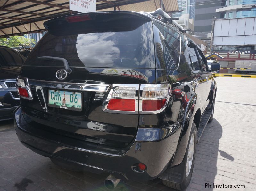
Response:
M165 186L176 189L176 190L184 190L189 185L192 177L192 173L193 173L193 168L194 168L196 141L197 141L197 131L196 131L196 125L193 121L189 140L188 140L187 150L186 150L184 159L182 161L183 164L181 164L184 167L183 171L181 172L182 182L175 183L168 180L162 180L162 183Z

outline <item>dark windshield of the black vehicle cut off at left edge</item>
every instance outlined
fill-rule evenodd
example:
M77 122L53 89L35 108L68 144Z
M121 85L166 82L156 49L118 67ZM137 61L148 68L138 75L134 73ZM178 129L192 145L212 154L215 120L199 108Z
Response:
M10 48L0 48L0 66L21 66L25 58Z

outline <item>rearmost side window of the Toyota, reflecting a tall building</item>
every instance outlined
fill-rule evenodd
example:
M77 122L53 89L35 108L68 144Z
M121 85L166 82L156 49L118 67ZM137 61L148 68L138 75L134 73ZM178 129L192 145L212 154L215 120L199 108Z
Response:
M175 70L180 57L180 35L169 26L153 22L157 68Z

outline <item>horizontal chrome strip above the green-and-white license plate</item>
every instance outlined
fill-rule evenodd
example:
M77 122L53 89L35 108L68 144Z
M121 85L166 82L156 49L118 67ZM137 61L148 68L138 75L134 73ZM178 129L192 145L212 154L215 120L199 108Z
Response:
M32 80L28 79L29 85L41 86L48 88L59 88L66 90L76 91L91 91L91 92L107 92L110 85L108 84L82 84L82 83L70 83L70 82L56 82L56 81L44 81L44 80Z

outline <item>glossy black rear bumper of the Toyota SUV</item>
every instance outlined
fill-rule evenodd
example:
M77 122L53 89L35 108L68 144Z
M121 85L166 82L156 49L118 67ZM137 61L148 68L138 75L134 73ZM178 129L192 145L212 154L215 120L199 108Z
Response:
M45 133L42 136L30 131L29 129L33 127L25 121L21 109L18 109L14 116L14 126L19 140L32 151L55 158L66 165L79 166L80 170L93 173L107 172L115 175L116 178L128 180L151 180L163 173L176 151L181 129L155 142L134 141L127 152L111 155L98 153L96 150L86 150L85 147L81 148L83 145L67 145L60 141L63 140L61 135L47 136ZM145 172L139 173L132 169L132 166L138 163L147 166Z

